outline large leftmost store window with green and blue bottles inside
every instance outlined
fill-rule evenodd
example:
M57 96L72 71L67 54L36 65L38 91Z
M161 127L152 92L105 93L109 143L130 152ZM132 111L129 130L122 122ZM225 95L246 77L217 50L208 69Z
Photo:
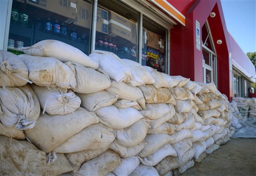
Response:
M90 0L13 0L8 50L55 39L89 53Z

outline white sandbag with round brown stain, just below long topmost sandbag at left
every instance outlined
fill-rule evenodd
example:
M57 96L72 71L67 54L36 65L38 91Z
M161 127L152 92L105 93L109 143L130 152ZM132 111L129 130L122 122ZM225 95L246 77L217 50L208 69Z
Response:
M40 86L73 88L76 80L72 70L54 57L21 54L19 58L28 68L29 79Z

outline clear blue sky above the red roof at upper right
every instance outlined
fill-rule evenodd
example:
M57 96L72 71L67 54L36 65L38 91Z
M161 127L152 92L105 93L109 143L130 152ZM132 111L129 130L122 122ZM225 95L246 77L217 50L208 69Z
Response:
M256 0L221 0L226 28L244 53L256 51Z

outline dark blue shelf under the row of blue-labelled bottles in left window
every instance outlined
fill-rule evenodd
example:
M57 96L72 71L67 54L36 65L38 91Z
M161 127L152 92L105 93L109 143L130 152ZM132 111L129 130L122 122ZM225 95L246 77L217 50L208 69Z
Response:
M46 32L39 31L39 30L35 30L34 39L35 39L35 42L38 42L40 40L45 40L45 39L59 40L59 41L62 41L64 43L70 44L70 45L76 47L77 49L80 49L83 52L88 50L88 43L85 43L85 41L84 42L79 42L77 40L71 40L71 39L68 39L68 38L57 36L53 33L46 33ZM87 53L85 53L85 54L87 54Z

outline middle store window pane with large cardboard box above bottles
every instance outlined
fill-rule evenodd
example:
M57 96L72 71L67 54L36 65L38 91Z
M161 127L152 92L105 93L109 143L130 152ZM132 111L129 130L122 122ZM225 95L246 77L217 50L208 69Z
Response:
M138 61L139 13L117 0L98 0L95 49Z

